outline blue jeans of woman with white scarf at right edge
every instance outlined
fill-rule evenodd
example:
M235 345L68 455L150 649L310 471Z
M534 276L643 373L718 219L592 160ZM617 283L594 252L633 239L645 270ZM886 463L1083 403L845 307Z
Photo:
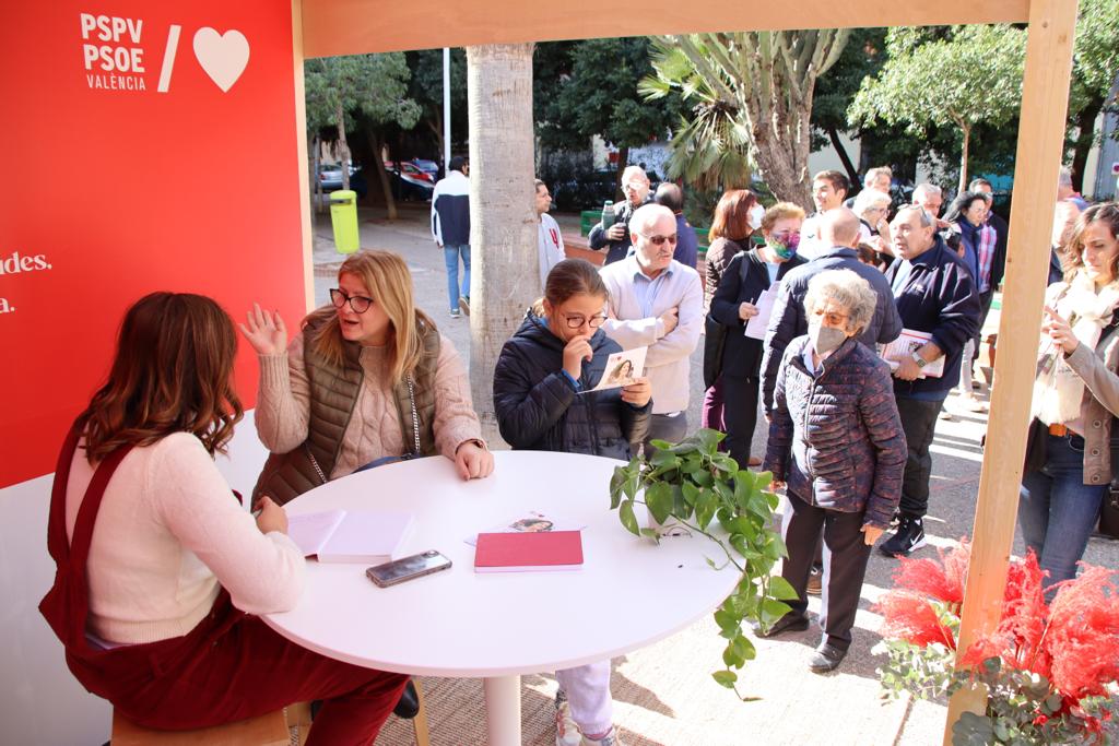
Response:
M1109 485L1084 484L1084 440L1079 435L1050 435L1045 445L1045 465L1022 479L1018 525L1026 546L1049 570L1045 584L1052 585L1076 576Z

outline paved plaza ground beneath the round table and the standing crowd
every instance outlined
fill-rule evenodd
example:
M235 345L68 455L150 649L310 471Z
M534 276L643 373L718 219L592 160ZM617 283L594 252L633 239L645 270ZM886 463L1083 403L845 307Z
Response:
M404 206L401 219L388 223L379 211L361 209L360 236L364 248L399 253L408 263L415 281L417 304L435 320L440 330L454 343L469 366L469 320L451 319L445 310L446 282L443 256L431 239L427 207ZM577 220L560 216L563 229L577 235ZM316 300L326 302L327 290L335 284L337 268L345 258L333 251L328 216L316 225ZM526 306L533 298L526 294ZM692 356L692 403L688 422L698 426L703 400L703 344ZM970 536L982 453L979 438L986 429L986 413L957 407L949 398L952 419L941 419L932 445L933 475L930 514L925 520L929 546L916 557L935 555L937 548L951 547L957 539ZM979 394L987 400L986 388ZM765 442L759 418L754 451ZM619 530L622 530L619 526ZM1023 551L1019 535L1015 553ZM1119 566L1119 542L1092 538L1084 559ZM855 643L835 673L818 676L808 671L806 661L818 640L819 631L792 634L775 641L759 640L758 658L747 663L741 676L743 693L759 696L759 701L739 702L733 692L715 684L709 673L720 665L722 646L716 629L705 618L688 630L660 643L634 651L615 661L613 689L615 721L622 727L627 744L703 746L741 744L900 744L903 746L940 744L946 708L942 702L910 702L903 699L882 703L876 667L882 658L872 653L881 640L881 618L871 611L877 597L891 587L896 561L874 553L863 587L856 618ZM665 603L671 603L666 598ZM540 613L579 613L579 599L557 603L557 610ZM819 612L819 599L810 599L810 613ZM609 601L587 613L610 623ZM525 677L523 719L525 743L547 746L553 743L551 697L555 683L551 676ZM477 682L431 680L429 717L432 743L462 746L485 743L485 721L472 705L481 697ZM472 715L471 715L472 714ZM407 724L391 723L380 744L411 743Z

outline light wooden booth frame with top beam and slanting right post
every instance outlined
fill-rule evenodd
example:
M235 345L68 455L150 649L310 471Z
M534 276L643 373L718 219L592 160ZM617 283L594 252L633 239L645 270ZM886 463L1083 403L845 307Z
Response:
M443 46L517 44L556 39L646 36L717 30L780 30L951 23L1028 22L1022 115L1015 162L1015 210L1006 259L1006 292L999 323L999 355L979 480L971 566L963 603L960 649L998 623L1014 539L1018 484L1025 454L1033 370L1049 266L1050 233L1072 70L1078 0L788 0L734 3L647 0L640 13L614 13L601 2L567 0L292 0L297 86L305 57L427 49ZM299 112L299 136L305 122ZM305 145L304 145L305 149ZM303 161L305 163L305 159ZM301 168L302 163L301 163ZM305 169L303 169L305 171ZM304 230L310 207L304 204ZM310 237L304 235L309 246ZM308 276L311 276L308 252ZM1018 375L1015 375L1017 371ZM962 690L951 700L951 724L965 710L986 707L986 692Z

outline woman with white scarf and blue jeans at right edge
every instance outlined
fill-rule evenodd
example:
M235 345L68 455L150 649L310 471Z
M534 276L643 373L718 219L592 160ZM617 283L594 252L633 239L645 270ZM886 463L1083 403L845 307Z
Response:
M1046 585L1076 563L1111 484L1111 432L1119 413L1119 206L1081 214L1062 282L1045 293L1033 425L1018 521Z

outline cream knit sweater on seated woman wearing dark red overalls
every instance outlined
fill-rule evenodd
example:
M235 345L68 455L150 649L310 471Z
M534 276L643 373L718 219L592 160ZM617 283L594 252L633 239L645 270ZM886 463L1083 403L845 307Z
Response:
M66 533L94 468L81 446L66 489ZM250 614L292 608L305 565L285 535L263 535L201 442L188 433L133 448L105 489L90 546L88 632L124 644L187 634L220 587Z

